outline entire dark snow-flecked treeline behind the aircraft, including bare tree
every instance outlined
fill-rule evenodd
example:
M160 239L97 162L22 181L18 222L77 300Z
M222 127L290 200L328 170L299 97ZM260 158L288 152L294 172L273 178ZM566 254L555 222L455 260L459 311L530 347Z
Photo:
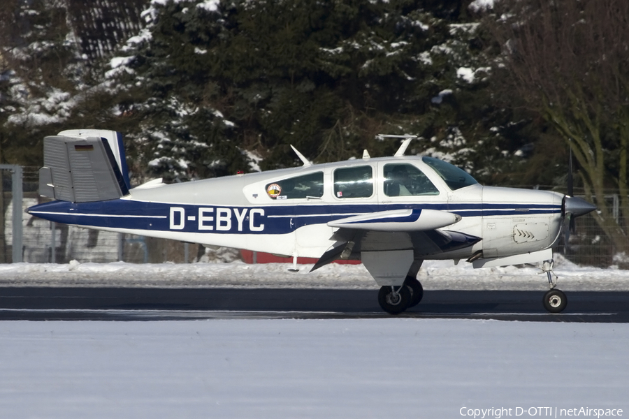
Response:
M136 184L391 155L629 205L626 0L5 0L0 163L68 128L126 136ZM614 233L615 232L615 233Z

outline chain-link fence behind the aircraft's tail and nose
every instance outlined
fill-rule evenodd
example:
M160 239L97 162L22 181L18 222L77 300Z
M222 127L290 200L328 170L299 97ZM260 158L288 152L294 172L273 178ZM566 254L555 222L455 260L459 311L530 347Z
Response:
M17 261L68 263L70 260L78 260L81 263L108 263L120 260L130 263L190 263L208 257L205 249L197 244L88 230L30 216L25 212L28 207L48 200L41 198L37 192L38 168L22 168L22 210L15 212L15 177L11 168L5 166L0 169L3 191L0 197L0 263L11 263L15 259L13 244L20 242L13 240L15 214L22 216L22 252ZM609 194L606 201L614 210L617 222L621 223L619 196ZM570 235L568 246L565 245L566 237L563 236L556 251L580 265L629 267L629 260L624 260L623 255L614 249L613 241L605 235L591 214L579 217L576 222L577 231Z

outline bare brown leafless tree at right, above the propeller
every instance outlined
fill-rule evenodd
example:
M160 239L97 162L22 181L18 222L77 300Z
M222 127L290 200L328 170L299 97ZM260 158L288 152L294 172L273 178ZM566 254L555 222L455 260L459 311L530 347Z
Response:
M570 144L600 226L617 251L629 251L605 205L605 189L616 187L629 217L629 2L504 0L486 24L512 87Z

